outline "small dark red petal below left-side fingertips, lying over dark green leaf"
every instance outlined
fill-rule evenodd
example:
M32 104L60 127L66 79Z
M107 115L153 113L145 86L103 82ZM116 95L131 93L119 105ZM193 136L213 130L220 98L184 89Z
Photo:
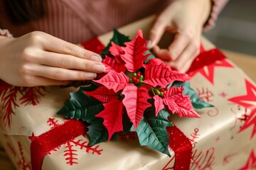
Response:
M114 93L112 89L107 89L105 86L100 86L95 91L84 91L85 94L96 98L102 103L107 103L112 100L112 98L117 98L117 93Z

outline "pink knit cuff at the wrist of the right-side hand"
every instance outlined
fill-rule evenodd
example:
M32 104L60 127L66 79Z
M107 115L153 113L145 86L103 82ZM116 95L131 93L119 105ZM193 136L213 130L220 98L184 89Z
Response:
M209 30L215 26L215 21L218 18L218 14L222 8L227 4L228 0L211 0L212 6L210 11L210 16L206 21L203 30Z

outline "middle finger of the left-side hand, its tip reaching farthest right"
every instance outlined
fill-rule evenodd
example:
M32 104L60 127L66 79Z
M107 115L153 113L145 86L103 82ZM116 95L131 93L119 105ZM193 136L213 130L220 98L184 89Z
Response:
M65 69L77 69L86 72L100 73L105 71L105 66L100 62L82 60L72 55L62 55L54 52L43 52L43 57L38 57L39 64Z

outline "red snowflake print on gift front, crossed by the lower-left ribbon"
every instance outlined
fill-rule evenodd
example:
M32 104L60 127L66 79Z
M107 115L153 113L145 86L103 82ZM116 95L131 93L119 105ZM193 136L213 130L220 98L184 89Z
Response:
M58 123L58 120L55 120L55 118L49 118L47 123L48 125L50 125L51 129L60 125ZM65 142L63 145L65 146L63 157L65 157L66 164L69 164L70 166L72 166L73 164L78 164L78 149L76 149L77 147L87 153L98 155L102 154L101 152L103 150L99 149L100 145L94 145L90 147L89 142L85 140L73 139ZM60 149L60 146L53 149L52 152L58 151L58 149Z

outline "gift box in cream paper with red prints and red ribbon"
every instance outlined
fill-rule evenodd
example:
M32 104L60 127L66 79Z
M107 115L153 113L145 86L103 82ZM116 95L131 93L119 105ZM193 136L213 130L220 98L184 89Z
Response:
M130 38L139 28L146 33L151 19L119 32ZM111 37L107 33L82 45L100 51ZM56 115L77 90L73 87L28 89L2 83L1 144L17 169L32 169L31 159L42 169L256 169L256 86L210 42L203 39L203 45L207 51L189 71L191 86L215 107L198 110L201 118L171 116L176 125L169 130L171 157L141 147L134 133L89 147L84 124ZM201 62L205 57L209 60Z

